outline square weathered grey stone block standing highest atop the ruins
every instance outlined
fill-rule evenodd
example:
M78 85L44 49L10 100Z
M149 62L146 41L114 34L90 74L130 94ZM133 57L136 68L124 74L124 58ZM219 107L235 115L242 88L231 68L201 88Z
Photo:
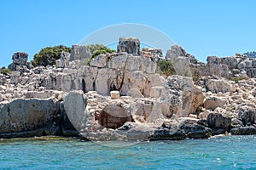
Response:
M117 52L126 52L135 56L140 55L140 41L136 37L120 37Z

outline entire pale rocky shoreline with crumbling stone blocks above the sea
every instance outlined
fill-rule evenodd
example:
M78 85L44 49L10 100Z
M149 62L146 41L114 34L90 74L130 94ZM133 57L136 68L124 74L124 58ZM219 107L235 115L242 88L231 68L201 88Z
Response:
M140 49L137 38L120 38L117 53L91 56L73 45L56 65L33 68L26 53L15 53L12 72L0 74L0 138L256 134L256 59L210 56L204 64L177 45L164 59L160 49ZM175 73L163 74L161 62L171 62Z

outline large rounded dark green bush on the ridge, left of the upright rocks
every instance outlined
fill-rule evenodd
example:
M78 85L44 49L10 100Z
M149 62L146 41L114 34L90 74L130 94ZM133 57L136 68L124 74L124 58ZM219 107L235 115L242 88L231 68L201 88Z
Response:
M39 51L38 54L34 55L32 65L55 65L55 60L61 58L62 51L70 53L71 48L67 48L64 45L43 48Z

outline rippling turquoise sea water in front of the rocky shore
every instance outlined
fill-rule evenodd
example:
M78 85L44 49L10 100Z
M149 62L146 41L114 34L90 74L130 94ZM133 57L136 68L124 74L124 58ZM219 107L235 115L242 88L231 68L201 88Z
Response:
M256 136L154 141L123 147L75 139L3 139L0 169L256 169L255 148Z

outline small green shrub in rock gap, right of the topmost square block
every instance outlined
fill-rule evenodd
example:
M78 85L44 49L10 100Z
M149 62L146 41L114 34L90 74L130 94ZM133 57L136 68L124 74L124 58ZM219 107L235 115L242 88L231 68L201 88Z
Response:
M161 75L169 77L176 74L171 61L163 59L157 63L157 66Z

